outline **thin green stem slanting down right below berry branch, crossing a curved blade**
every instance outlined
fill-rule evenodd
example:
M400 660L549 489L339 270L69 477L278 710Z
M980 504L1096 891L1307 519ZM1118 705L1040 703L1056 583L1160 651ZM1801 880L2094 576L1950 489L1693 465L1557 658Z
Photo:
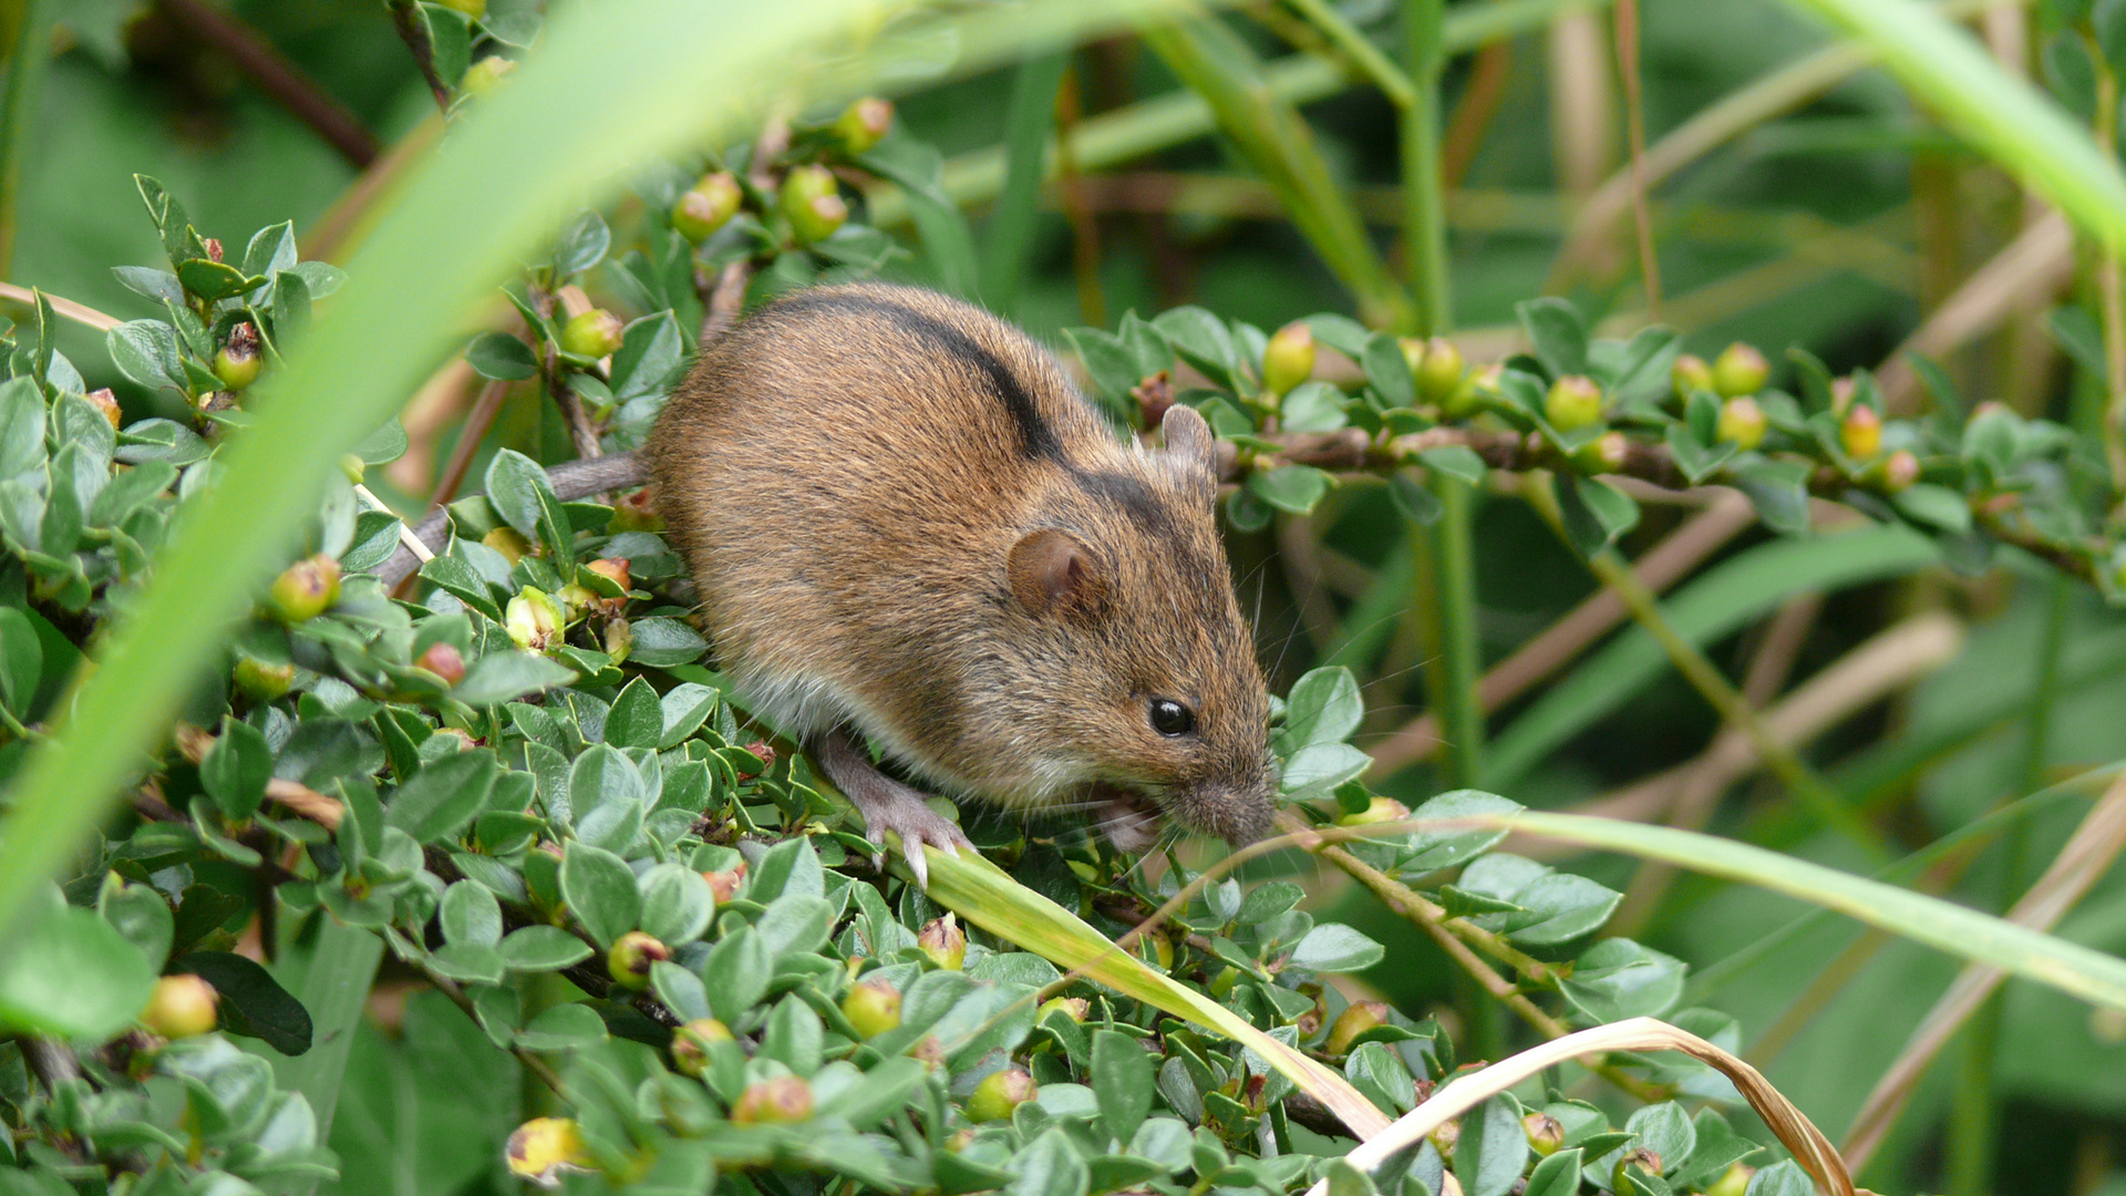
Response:
M1529 485L1522 487L1529 498L1529 506L1550 524L1550 530L1558 534L1567 545L1571 536L1565 532L1565 517L1558 511L1558 498L1552 489L1548 477L1529 477ZM1869 826L1852 807L1839 800L1837 792L1816 775L1801 755L1794 753L1779 736L1771 734L1765 719L1758 717L1756 709L1720 675L1720 668L1705 658L1688 638L1684 638L1669 617L1660 611L1660 602L1654 592L1639 581L1639 575L1631 570L1616 549L1601 549L1594 555L1584 558L1588 572L1597 577L1603 585L1616 592L1624 600L1624 609L1631 617L1646 628L1660 651L1669 655L1669 664L1690 681L1705 702L1720 715L1722 721L1743 732L1756 747L1758 755L1765 760L1765 768L1779 779L1782 785L1794 800L1799 800L1811 815L1816 815L1824 826L1837 830L1845 838L1854 841L1860 849L1869 853L1869 860L1884 864L1890 860L1890 849L1882 834Z

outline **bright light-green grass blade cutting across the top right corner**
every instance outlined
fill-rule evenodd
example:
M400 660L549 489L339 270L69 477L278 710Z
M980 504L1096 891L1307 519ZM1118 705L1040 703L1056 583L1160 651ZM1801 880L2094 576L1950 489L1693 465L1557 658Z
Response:
M1788 0L1867 40L1926 109L2111 251L2126 249L2126 177L2058 104L1913 0Z

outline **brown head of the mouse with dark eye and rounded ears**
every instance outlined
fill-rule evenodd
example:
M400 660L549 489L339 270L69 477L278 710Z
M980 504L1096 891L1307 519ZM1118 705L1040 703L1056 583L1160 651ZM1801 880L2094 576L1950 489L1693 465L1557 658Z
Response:
M1012 545L1012 600L1042 660L1027 694L1108 838L1150 847L1165 819L1250 843L1269 830L1269 700L1216 521L1212 434L1188 406L1165 451L1067 466ZM1061 734L1057 734L1061 732Z

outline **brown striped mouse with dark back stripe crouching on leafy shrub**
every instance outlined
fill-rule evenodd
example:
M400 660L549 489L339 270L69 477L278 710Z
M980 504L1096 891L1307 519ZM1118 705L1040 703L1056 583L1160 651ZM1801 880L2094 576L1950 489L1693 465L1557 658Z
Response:
M1012 323L850 283L759 306L638 453L572 464L557 492L653 483L716 664L918 885L923 845L969 847L929 794L1082 811L1129 853L1269 830L1269 696L1195 409L1157 449L1118 438Z

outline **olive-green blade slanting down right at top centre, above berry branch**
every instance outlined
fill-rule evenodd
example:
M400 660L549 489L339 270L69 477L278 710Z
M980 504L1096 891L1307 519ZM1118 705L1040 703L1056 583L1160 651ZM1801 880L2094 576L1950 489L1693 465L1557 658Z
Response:
M1248 43L1216 17L1150 26L1140 36L1210 104L1218 132L1278 192L1301 236L1359 300L1359 317L1376 328L1407 326L1410 300L1373 251L1350 187L1329 172L1299 111L1267 87Z

